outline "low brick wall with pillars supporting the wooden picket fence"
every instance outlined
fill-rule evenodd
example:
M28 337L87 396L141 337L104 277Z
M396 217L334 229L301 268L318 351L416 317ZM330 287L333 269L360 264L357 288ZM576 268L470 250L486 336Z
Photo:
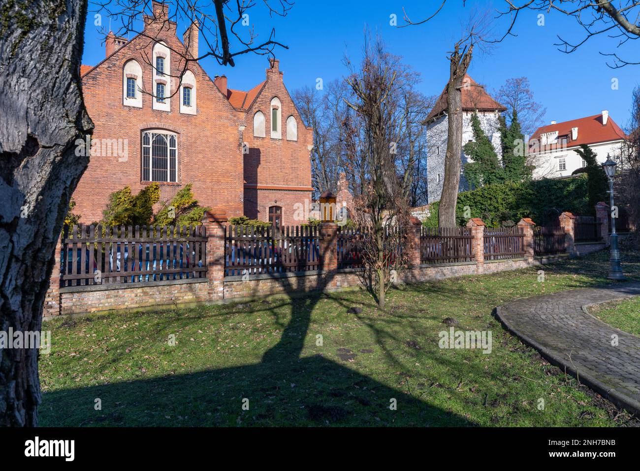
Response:
M183 279L175 282L148 282L129 285L93 285L60 288L56 279L45 297L44 316L77 314L106 310L125 310L149 307L172 306L189 303L216 303L257 299L278 294L300 294L311 291L335 291L346 288L363 288L364 271L362 269L338 269L336 255L336 224L323 224L319 247L323 269L310 272L291 272L275 274L257 274L225 277L225 224L226 215L207 213L204 226L207 234L205 264L206 278ZM474 261L462 263L420 264L420 257L412 256L412 266L401 270L397 283L418 283L454 276L489 274L506 270L517 270L561 260L570 254L584 254L573 245L573 226L570 213L561 215L561 224L565 227L566 254L556 256L534 256L533 227L530 219L518 222L524 233L525 255L512 260L484 260L483 237L484 223L480 219L469 220L474 240ZM415 236L419 243L419 226L415 226ZM602 248L604 244L591 244L589 249ZM586 245L584 245L586 247ZM415 243L412 244L412 251ZM56 267L60 272L60 244L56 248Z

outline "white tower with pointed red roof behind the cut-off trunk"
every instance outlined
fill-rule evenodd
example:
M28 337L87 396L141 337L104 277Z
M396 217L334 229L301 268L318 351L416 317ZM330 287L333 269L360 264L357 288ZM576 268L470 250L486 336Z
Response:
M497 132L498 118L506 108L495 101L482 85L479 85L468 74L465 74L461 89L462 93L462 145L474 140L471 129L471 117L477 113L484 133L492 141L493 147L502 158L500 135ZM427 126L427 183L428 202L440 201L442 186L444 185L444 160L447 153L447 134L449 118L447 117L447 87L436 101L435 106L422 123ZM462 168L465 163L472 161L463 151L460 151ZM468 184L463 175L460 176L460 191L468 190Z

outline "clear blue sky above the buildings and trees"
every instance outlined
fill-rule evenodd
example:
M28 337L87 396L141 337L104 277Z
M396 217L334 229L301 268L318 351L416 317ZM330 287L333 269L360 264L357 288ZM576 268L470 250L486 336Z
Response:
M403 7L415 21L433 13L440 1L298 0L286 17L273 18L261 1L255 3L250 10L250 22L260 33L259 38L268 37L273 26L276 39L289 46L276 50L289 92L304 85L314 87L317 78L323 78L324 83L340 78L346 72L342 63L344 54L351 60L359 60L364 31L369 28L380 33L391 53L403 56L403 61L420 74L419 89L428 95L442 91L449 74L447 51L460 37L461 24L472 8L494 11L495 6L502 6L501 0L468 0L463 8L461 0L448 0L445 8L427 24L396 28L389 24L390 15L396 14L397 23L403 24ZM490 16L492 28L495 35L500 35L507 20L493 20L494 16ZM106 25L108 19L103 17L102 22ZM545 124L609 110L620 126L626 126L631 92L640 84L640 66L616 70L607 67L607 58L598 51L614 51L616 39L604 36L591 38L572 54L561 53L553 45L557 42L556 34L561 33L568 40L582 40L579 27L572 19L556 13L546 14L544 22L544 26L538 26L538 12L521 14L515 28L518 37L508 37L490 51L474 54L469 69L472 78L492 92L508 78L527 76L536 101L547 108ZM184 29L186 25L179 24L179 36ZM84 39L83 63L95 65L104 58L104 44L100 44L102 38L93 26L91 12ZM636 62L639 58L629 46L620 52L626 52L626 57ZM236 67L222 67L209 59L202 61L202 66L210 76L227 75L228 87L248 90L264 79L267 59L246 54L237 56ZM617 90L611 87L614 78L618 79Z

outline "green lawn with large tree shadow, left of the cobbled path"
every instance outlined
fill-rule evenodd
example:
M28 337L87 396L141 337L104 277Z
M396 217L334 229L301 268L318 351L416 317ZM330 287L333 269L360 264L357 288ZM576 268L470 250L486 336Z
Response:
M640 252L623 256L640 280ZM510 299L605 284L608 263L601 252L404 286L388 294L386 311L350 291L55 319L44 327L52 351L40 357L40 424L637 425L492 315ZM438 348L446 317L456 329L491 331L492 352Z

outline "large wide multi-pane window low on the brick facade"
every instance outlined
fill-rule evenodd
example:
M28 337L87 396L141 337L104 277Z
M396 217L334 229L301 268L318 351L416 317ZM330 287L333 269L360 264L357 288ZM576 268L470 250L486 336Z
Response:
M142 133L142 180L176 182L178 177L178 136L152 129Z

